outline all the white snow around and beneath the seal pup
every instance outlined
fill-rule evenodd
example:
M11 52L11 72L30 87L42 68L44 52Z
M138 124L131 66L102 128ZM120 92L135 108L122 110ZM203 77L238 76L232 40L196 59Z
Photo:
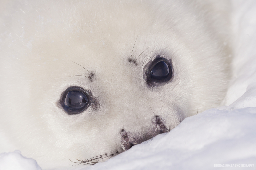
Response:
M55 167L52 163L47 169L256 169L256 1L233 1L233 9L234 78L227 106L188 117L169 133L135 145L106 162L90 167L72 162L74 166ZM34 159L14 151L0 154L0 169L41 168Z

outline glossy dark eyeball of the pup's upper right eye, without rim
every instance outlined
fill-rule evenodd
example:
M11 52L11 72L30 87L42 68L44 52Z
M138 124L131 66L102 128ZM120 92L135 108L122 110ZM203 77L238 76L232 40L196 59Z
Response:
M156 80L163 80L169 75L169 66L164 61L159 61L156 65L151 69L150 76Z

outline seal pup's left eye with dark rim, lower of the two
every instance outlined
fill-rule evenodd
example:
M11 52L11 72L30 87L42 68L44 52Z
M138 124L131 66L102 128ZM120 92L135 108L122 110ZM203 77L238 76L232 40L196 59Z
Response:
M90 104L86 91L79 87L69 87L63 94L61 106L68 115L83 112Z

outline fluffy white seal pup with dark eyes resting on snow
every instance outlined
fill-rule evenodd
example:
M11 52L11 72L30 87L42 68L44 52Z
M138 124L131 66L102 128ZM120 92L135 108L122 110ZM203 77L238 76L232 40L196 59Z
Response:
M225 97L228 1L1 3L1 152L115 156Z

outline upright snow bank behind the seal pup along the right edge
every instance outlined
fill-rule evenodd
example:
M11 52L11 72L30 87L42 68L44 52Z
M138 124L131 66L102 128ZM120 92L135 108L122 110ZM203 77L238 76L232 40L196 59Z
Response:
M231 87L222 109L256 107L256 2L234 0L236 37Z

